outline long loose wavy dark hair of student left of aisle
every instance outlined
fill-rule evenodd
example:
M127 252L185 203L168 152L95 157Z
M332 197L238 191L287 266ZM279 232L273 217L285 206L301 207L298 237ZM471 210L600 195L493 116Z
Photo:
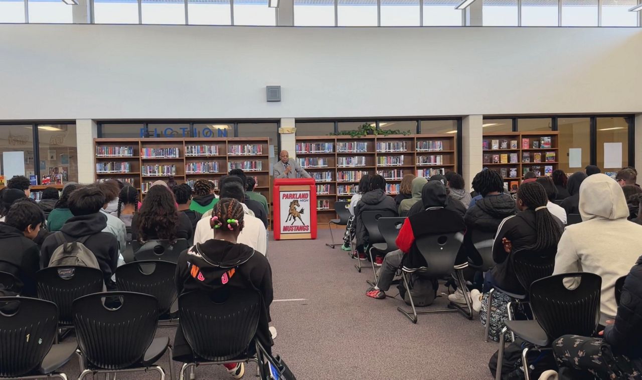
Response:
M160 240L176 240L178 211L174 195L162 185L154 185L143 199L138 212L138 239L142 241L156 237Z

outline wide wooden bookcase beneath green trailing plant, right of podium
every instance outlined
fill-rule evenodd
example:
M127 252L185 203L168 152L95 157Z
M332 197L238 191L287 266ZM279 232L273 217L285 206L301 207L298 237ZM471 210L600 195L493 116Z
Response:
M317 180L317 221L334 219L335 201L349 201L363 174L381 174L399 193L406 174L429 177L456 170L454 134L297 137L297 161Z

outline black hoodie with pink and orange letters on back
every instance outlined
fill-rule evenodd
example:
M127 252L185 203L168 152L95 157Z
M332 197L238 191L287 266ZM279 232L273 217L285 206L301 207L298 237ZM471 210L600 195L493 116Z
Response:
M259 291L263 308L256 334L263 347L270 350L273 344L268 330L268 323L272 320L272 268L261 253L245 244L207 240L180 253L174 280L179 296L193 290L216 291L225 286ZM174 357L187 359L189 356L191 349L179 328L174 339Z

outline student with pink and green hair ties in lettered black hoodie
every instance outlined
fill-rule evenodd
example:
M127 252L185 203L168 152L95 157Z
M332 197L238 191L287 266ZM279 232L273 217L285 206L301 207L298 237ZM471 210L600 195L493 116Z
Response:
M232 185L238 186L229 186ZM272 268L262 252L238 242L247 215L239 201L223 197L222 192L223 188L220 201L214 205L213 216L207 219L210 228L216 230L216 239L197 243L180 254L176 267L176 289L179 296L193 290L216 294L225 287L259 291L263 302L256 337L270 352L273 344L268 328L273 299ZM179 327L174 338L174 359L188 362L191 356L191 348ZM234 379L240 379L245 372L243 363L225 365L225 368Z

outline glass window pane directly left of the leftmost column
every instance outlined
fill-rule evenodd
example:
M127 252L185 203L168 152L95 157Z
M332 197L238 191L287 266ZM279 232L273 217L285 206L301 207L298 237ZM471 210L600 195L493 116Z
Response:
M75 124L38 125L40 181L52 184L78 182L78 149Z

